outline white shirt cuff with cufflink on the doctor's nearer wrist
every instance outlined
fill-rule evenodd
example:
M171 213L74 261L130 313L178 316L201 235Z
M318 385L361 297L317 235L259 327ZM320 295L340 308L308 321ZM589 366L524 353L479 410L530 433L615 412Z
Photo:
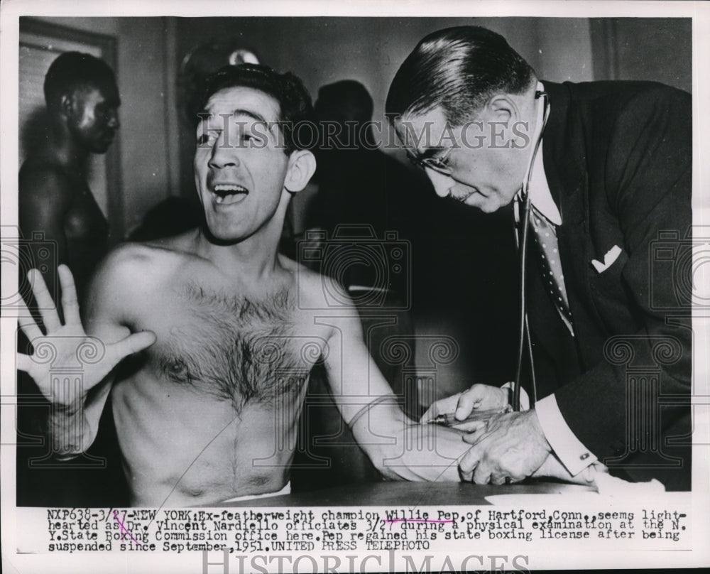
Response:
M577 475L596 462L596 456L579 441L579 438L574 436L572 430L567 426L559 411L554 394L537 401L535 412L547 442L550 443L555 455L562 461L570 475Z

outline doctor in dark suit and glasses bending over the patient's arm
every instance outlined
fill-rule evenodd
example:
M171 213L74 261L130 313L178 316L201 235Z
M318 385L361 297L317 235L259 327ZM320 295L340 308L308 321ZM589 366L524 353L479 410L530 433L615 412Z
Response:
M689 94L539 80L503 37L466 26L417 45L386 109L437 195L514 207L523 408L469 423L464 478L518 482L552 455L575 480L596 468L688 488ZM507 387L476 384L429 414L461 420Z

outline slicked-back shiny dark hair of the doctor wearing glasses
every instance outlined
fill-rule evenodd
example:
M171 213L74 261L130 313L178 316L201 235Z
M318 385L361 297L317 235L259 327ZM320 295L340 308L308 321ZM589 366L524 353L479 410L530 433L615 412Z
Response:
M442 107L460 126L496 93L522 94L535 71L500 34L480 26L458 26L424 38L392 81L386 112L393 118Z

